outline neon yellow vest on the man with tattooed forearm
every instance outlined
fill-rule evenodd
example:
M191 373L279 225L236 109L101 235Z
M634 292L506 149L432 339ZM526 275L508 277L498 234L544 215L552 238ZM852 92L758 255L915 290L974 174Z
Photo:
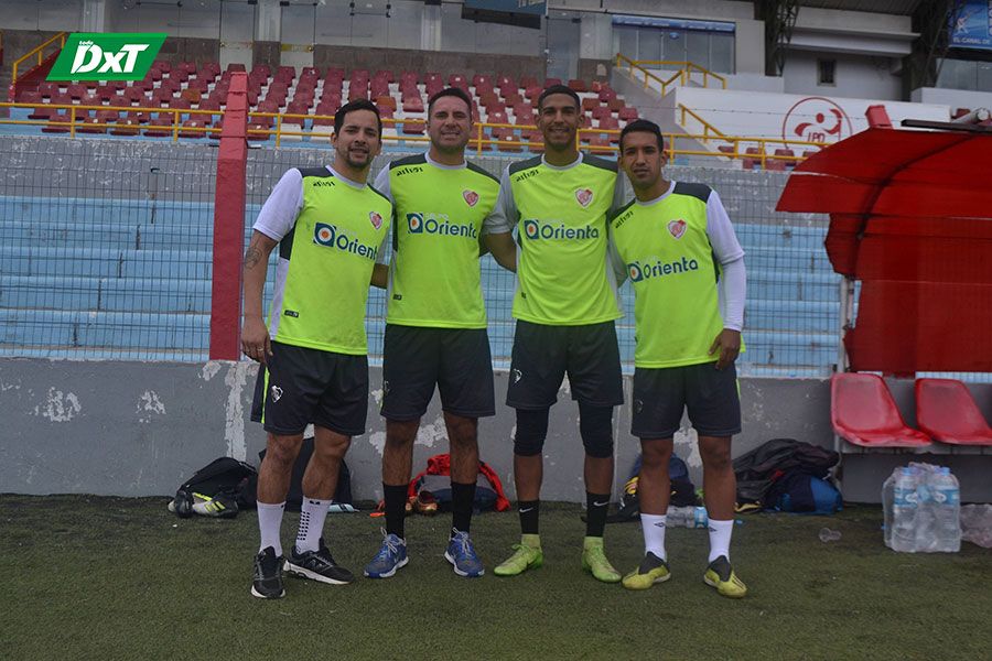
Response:
M356 188L326 167L300 172L303 208L279 242L269 335L289 345L364 356L369 280L392 205L375 188Z

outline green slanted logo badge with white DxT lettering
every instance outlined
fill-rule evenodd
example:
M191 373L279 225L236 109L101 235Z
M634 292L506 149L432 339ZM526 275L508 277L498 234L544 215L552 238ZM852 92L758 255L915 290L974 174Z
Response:
M164 32L74 32L48 80L141 80L162 47Z

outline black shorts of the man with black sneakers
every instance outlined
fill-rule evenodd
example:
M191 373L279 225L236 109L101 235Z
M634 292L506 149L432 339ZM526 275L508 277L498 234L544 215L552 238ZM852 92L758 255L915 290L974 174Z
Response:
M313 423L358 436L367 414L368 357L272 343L251 403L251 420L267 432L291 436Z

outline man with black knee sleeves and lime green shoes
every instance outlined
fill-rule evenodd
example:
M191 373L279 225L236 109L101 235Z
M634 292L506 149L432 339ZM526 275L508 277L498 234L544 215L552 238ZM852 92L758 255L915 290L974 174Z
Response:
M569 376L579 401L585 447L587 519L582 567L619 582L603 549L613 484L613 408L623 403L614 319L622 316L606 261L606 213L614 204L616 164L579 153L583 122L578 95L562 85L538 99L544 155L513 163L503 174L496 215L518 227L517 319L507 404L517 411L514 480L521 540L495 568L514 576L543 562L539 534L541 448L550 407Z

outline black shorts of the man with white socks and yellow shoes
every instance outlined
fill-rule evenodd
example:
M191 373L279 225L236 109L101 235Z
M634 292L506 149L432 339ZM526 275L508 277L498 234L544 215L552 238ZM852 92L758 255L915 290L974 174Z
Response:
M734 365L715 362L634 370L634 414L630 433L638 438L671 438L689 409L701 436L741 433L741 395Z

